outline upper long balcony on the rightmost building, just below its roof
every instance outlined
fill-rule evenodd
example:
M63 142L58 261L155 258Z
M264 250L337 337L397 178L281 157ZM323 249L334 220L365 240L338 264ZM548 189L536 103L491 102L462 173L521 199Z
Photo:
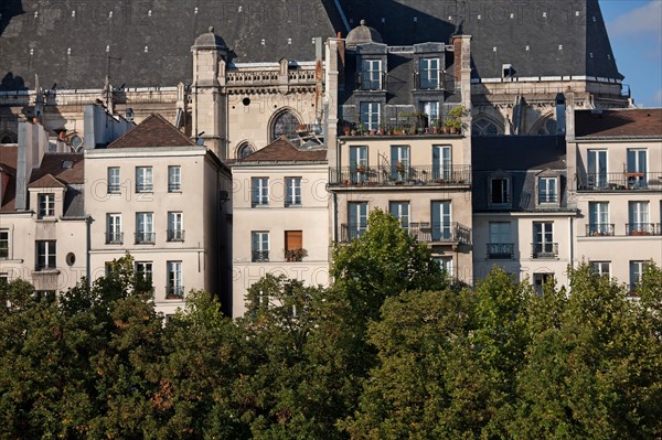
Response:
M579 173L579 191L662 191L662 172Z

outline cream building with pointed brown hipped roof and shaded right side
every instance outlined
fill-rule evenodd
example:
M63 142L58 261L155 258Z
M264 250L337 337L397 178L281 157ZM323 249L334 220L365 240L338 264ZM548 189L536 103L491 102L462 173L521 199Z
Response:
M85 167L92 279L129 253L167 315L192 289L229 293L231 175L214 153L152 115Z

